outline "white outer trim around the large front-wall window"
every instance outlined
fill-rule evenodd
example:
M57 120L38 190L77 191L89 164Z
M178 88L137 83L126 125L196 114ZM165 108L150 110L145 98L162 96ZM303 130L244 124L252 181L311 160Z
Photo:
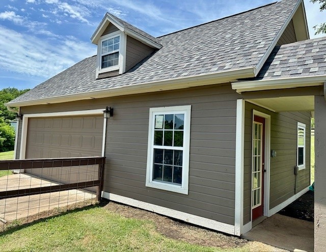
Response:
M184 128L183 128L183 160L182 160L182 184L174 185L164 182L152 180L153 172L153 153L154 153L154 114L157 113L184 113ZM190 121L191 121L191 105L161 107L149 109L149 125L148 125L148 150L147 150L147 170L146 170L146 186L161 190L167 190L182 194L188 194L189 182L189 145L190 145Z

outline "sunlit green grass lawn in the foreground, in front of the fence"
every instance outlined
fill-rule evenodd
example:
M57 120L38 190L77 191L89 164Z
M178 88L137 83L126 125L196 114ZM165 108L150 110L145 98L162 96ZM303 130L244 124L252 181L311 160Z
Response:
M1 251L56 252L230 251L167 238L156 231L152 221L125 218L102 207L87 207L18 226L0 236L0 247Z

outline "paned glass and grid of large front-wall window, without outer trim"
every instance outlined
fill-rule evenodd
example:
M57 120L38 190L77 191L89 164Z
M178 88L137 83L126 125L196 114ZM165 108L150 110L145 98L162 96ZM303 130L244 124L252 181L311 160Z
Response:
M154 115L153 181L182 184L184 114Z

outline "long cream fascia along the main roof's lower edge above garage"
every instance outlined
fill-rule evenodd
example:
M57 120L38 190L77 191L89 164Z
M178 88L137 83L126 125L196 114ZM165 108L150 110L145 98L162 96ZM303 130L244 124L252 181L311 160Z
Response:
M53 96L49 98L40 98L33 100L26 100L23 102L9 102L5 105L7 107L24 107L41 104L56 104L73 102L83 99L106 98L120 95L141 94L148 92L157 92L165 90L175 90L189 87L206 86L212 84L221 84L232 82L242 78L253 78L255 75L255 67L242 68L237 70L229 70L218 73L195 75L192 77L175 78L163 81L154 81L148 83L141 83L129 86L122 86L116 88L102 89L84 93L67 94Z

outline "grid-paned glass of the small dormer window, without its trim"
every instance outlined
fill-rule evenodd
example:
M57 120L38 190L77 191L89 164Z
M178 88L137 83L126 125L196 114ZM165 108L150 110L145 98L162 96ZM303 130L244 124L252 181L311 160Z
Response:
M109 38L101 44L101 68L119 65L120 36Z

